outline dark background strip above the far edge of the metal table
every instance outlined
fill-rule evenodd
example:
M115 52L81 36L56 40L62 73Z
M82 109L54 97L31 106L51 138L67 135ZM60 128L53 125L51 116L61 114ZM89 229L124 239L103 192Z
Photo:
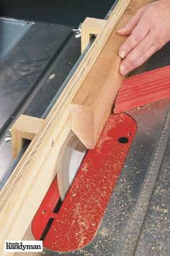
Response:
M0 16L79 26L86 17L104 18L114 0L0 0Z

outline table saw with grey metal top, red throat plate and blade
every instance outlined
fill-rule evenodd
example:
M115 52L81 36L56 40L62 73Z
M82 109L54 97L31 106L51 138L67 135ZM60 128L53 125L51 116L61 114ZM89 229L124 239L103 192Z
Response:
M3 191L30 145L24 140L12 161L11 140L5 141L9 129L21 114L48 116L94 38L81 54L73 27L5 18L0 24L5 35L0 56ZM168 43L129 77L168 67L169 52ZM58 174L23 240L42 240L40 255L169 255L170 98L164 98L110 114L93 150L69 134Z

